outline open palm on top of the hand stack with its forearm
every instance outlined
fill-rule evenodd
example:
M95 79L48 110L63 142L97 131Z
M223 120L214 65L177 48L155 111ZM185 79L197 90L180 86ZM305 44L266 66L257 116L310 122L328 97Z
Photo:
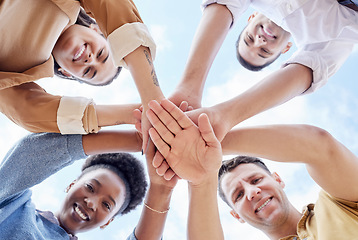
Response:
M149 106L154 144L171 169L189 182L188 239L224 239L216 190L221 148L209 119L201 115L196 126L168 100Z

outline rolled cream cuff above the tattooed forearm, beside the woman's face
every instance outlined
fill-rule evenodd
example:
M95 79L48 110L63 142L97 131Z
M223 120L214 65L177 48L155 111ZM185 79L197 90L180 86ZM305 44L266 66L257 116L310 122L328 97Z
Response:
M155 59L156 45L147 26L143 23L124 24L108 36L108 41L116 66L127 67L123 58L140 46L148 47L152 59Z

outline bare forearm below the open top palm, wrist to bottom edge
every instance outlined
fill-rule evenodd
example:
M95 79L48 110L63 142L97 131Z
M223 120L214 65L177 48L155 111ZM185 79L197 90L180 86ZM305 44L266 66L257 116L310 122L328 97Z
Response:
M189 240L224 239L217 201L217 174L200 186L189 184Z

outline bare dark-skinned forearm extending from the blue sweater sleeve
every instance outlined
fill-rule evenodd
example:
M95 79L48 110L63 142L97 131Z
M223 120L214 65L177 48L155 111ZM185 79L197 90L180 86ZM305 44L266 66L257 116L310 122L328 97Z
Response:
M139 152L141 137L137 131L101 131L83 135L83 149L87 155L113 152Z

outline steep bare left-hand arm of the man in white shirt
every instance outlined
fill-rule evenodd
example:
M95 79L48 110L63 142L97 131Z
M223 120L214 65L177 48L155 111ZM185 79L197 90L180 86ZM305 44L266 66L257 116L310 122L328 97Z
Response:
M215 3L205 8L181 81L169 98L177 106L182 101L194 108L201 106L206 77L232 22L226 6Z

